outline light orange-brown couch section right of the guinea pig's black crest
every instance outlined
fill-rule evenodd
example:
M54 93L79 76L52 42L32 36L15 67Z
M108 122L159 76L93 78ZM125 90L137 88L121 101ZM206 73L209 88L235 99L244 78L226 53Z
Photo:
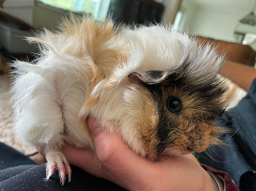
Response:
M246 91L256 77L256 69L253 67L230 61L224 63L220 73Z

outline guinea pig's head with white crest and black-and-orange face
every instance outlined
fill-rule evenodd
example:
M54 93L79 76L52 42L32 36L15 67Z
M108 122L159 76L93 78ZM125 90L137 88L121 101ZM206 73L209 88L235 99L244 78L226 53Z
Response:
M98 82L82 116L94 115L108 130L114 127L151 160L168 147L172 154L185 154L219 143L220 128L213 121L226 106L226 85L218 74L223 57L162 26L127 29L122 37L130 45L127 60ZM180 102L179 112L168 110L170 97Z

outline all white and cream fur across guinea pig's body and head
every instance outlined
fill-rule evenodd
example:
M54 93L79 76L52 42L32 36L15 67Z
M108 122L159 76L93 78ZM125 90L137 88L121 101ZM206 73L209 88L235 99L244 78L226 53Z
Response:
M43 44L41 56L32 64L21 61L13 64L18 73L11 90L15 133L25 143L49 153L61 152L65 142L94 148L84 124L78 120L92 115L108 131L119 132L136 153L145 156L139 128L144 99L140 90L129 82L128 74L172 71L187 59L191 62L191 77L199 76L202 80L199 83L203 83L213 78L221 67L221 58L210 46L198 47L188 35L161 26L124 29L120 40L108 40L96 47L112 48L128 56L123 66L107 61L95 63L97 58L85 48L86 37L81 39L86 31L78 27L72 30L69 36L45 31L39 41ZM122 48L127 44L129 52ZM88 95L92 80L88 71L94 64L103 78ZM98 97L98 104L82 108L87 96ZM157 111L153 102L152 107ZM58 161L63 156L50 155L49 158Z

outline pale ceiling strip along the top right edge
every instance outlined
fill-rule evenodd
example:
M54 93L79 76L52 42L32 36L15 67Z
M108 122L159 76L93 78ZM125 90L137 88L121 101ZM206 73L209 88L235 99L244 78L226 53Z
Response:
M183 0L191 1L200 6L217 6L223 9L252 10L255 0ZM255 10L254 10L255 11Z

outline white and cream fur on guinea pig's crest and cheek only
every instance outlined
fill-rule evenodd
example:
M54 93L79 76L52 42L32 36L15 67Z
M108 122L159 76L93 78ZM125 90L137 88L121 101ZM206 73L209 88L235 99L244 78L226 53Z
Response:
M207 45L201 47L197 41L172 29L162 26L142 27L123 31L123 38L130 45L128 62L114 70L113 78L100 81L92 96L100 97L98 105L83 108L81 114L94 115L108 130L118 130L126 143L138 154L145 156L145 146L140 136L139 119L144 99L141 92L127 79L129 73L148 70L175 70L185 59L191 62L191 78L199 77L197 84L215 78L223 58ZM107 86L109 81L115 81ZM153 105L152 107L156 107ZM156 108L157 111L157 108Z

